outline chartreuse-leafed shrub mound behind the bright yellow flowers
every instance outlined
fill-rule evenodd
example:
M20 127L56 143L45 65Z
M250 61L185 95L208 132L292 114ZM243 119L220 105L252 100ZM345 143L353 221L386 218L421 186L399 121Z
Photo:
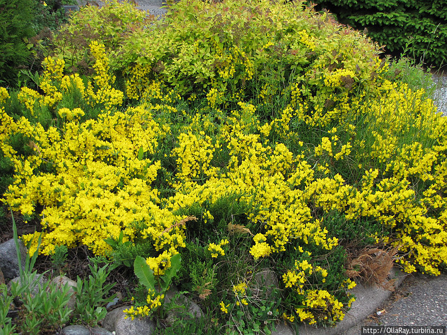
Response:
M70 36L88 41L93 37L85 27L91 21L104 27L91 29L104 38L112 70L126 75L130 98L144 97L164 83L181 94L215 96L211 103L224 99L235 105L238 99L259 97L271 102L277 83L283 87L293 80L301 94L313 97L309 103L325 103L335 91L361 86L377 52L362 35L300 2L180 1L163 20L150 25L136 20L112 29L111 17L119 17L116 8L116 2L109 2L97 13L88 8L75 13L58 35L55 52L81 68L87 47L78 48ZM138 10L129 12L133 17ZM102 29L111 32L101 35ZM340 78L343 84L337 85ZM220 96L225 90L231 94ZM316 91L324 94L316 97Z

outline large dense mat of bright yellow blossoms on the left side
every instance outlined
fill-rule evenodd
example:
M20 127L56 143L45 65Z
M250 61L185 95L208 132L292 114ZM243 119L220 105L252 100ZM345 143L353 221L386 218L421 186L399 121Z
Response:
M60 77L59 71L53 72ZM157 192L150 184L160 162L150 156L168 128L159 127L149 110L149 106L130 107L79 122L81 109L62 108L59 114L67 122L59 132L54 127L45 131L25 118L14 121L2 109L1 150L13 162L16 173L5 201L27 215L38 205L44 207L40 213L42 253L51 254L56 245L84 244L96 254L106 254L110 247L105 238L117 238L124 230L124 240L133 240L133 222L155 222L157 217L163 220L156 221L155 230L150 230L149 223L145 236L150 235L159 249L184 246L182 227L175 227L167 239L160 233L181 217L163 213L154 204L158 202ZM16 156L9 144L14 134L30 138L34 154ZM148 158L138 157L140 149ZM48 163L50 171L36 172ZM32 240L30 253L37 244L33 237L23 236L25 242Z

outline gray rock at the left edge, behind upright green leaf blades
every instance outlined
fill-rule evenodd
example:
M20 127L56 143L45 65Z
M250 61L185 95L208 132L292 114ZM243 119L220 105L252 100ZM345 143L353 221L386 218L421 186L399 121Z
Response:
M28 251L22 241L18 241L20 250L20 259L22 269L25 268L25 259ZM13 239L0 244L0 269L6 280L15 278L20 275L17 251L15 250L15 242Z

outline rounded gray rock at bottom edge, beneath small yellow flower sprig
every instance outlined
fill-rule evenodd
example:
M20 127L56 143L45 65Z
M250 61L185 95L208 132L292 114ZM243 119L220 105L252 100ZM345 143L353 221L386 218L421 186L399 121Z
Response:
M116 335L150 335L155 330L155 324L149 318L125 319L126 314L123 310L130 308L131 306L123 306L115 308L107 313L102 327L110 332L115 332Z

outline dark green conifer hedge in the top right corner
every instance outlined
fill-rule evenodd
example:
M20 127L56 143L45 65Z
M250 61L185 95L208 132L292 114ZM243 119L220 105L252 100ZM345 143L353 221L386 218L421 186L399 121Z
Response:
M386 51L406 54L428 65L447 63L446 0L316 0L341 23L368 30Z

